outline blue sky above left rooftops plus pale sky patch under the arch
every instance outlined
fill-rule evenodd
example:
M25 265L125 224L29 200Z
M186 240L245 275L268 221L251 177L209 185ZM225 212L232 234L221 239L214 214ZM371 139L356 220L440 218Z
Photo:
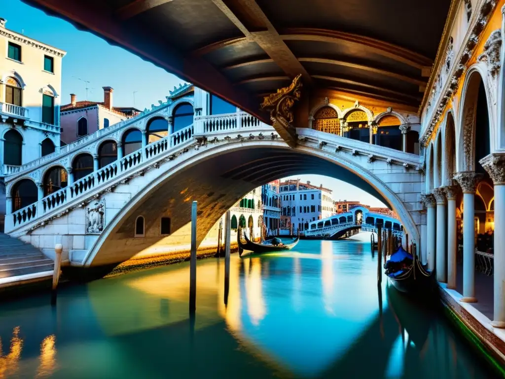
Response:
M169 90L184 82L152 63L20 0L2 0L2 3L0 17L7 19L8 29L67 52L63 58L62 104L70 103L70 93L75 93L77 100L86 100L86 85L90 88L87 100L103 101L102 87L111 86L116 107L135 106L143 110L151 104L158 104L158 100L165 101ZM298 178L333 189L335 200L359 200L370 206L384 206L372 195L341 180L321 175L299 175Z

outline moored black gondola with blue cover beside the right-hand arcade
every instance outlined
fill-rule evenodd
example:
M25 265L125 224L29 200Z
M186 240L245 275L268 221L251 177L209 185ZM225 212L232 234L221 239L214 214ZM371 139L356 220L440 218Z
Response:
M394 270L395 266L405 266L403 269ZM395 289L415 297L427 298L436 289L433 271L426 270L418 256L406 252L402 247L391 255L389 261L384 264L386 276L391 280Z

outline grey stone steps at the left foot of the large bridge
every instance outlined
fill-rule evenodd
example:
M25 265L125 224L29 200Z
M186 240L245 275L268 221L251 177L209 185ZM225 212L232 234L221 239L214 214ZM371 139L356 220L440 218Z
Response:
M0 288L51 278L54 262L30 244L0 233Z

